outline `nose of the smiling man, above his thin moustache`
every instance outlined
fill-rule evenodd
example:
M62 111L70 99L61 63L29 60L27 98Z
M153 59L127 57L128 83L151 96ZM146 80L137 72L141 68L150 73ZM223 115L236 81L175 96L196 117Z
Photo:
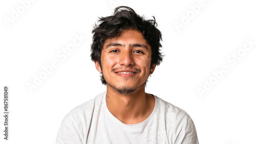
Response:
M132 52L123 51L120 55L119 64L123 66L134 65Z

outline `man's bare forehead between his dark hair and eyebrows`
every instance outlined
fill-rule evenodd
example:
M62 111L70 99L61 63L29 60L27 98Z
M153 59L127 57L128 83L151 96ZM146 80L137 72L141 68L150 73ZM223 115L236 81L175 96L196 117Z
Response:
M105 40L103 49L108 47L108 45L113 45L113 43L118 43L124 46L140 44L145 45L148 49L151 49L150 44L146 42L142 33L136 30L123 30L120 36Z

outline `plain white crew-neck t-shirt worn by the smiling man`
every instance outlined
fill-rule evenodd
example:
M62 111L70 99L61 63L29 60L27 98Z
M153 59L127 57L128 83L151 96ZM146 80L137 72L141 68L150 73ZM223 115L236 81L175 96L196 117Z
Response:
M189 115L156 95L151 115L134 125L119 121L106 106L105 96L103 92L71 110L61 123L57 144L198 143Z

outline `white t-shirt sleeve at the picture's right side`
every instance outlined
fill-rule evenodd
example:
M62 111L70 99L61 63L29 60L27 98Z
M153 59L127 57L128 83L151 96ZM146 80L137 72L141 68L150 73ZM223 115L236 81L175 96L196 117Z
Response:
M175 142L176 144L199 144L196 127L192 119L190 119L187 127L180 134L177 142Z

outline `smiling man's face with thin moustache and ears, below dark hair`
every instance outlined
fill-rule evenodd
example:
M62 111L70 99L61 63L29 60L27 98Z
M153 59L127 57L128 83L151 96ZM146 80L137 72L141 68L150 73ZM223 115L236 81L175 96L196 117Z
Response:
M124 30L117 38L105 41L101 51L101 67L95 61L97 70L103 74L107 85L119 93L130 93L145 85L155 64L151 65L151 46L136 30Z

